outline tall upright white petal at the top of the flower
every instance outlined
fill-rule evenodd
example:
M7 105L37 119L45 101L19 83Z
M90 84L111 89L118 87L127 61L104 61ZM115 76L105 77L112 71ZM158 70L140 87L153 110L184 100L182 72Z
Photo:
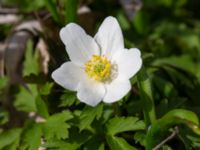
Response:
M100 26L95 40L101 48L101 54L111 57L124 49L124 39L119 23L114 17L107 17Z

